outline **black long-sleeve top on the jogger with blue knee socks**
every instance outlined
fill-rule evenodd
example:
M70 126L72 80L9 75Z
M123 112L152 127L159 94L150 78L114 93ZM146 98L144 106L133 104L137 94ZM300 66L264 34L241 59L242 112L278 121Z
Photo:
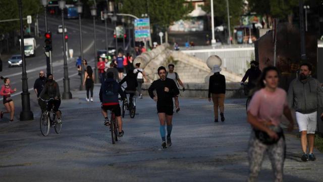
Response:
M165 87L169 88L169 92L165 92ZM173 79L166 78L165 80L155 80L148 88L148 93L151 99L155 97L153 90L157 93L158 106L173 106L173 97L180 94L180 90L176 86Z

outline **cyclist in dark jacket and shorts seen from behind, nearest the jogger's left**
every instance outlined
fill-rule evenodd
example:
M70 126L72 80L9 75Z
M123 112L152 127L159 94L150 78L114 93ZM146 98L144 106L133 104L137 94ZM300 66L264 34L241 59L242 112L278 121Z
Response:
M104 125L110 125L109 118L107 116L107 110L113 110L116 115L119 129L119 137L122 137L124 131L122 130L121 108L118 100L118 96L121 96L124 102L127 102L127 97L121 89L119 83L114 79L113 72L106 73L106 79L101 85L99 98L101 104L101 112L104 116Z

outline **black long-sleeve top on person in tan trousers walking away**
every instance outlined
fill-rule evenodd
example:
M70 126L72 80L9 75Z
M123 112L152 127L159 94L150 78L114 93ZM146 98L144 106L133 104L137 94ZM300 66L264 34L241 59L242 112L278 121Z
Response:
M208 83L208 98L212 94L226 94L226 77L222 74L213 74Z

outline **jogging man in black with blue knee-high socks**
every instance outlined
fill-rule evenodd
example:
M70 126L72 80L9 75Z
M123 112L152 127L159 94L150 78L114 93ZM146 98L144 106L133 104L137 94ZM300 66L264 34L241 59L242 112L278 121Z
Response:
M151 99L157 102L157 113L160 122L159 132L163 143L161 146L166 148L172 145L171 133L172 133L172 119L173 119L173 97L179 95L179 89L173 79L166 77L166 68L160 66L158 68L158 75L160 79L151 83L148 93ZM156 90L157 96L153 94L153 90ZM167 122L167 144L166 144L166 131L165 121Z

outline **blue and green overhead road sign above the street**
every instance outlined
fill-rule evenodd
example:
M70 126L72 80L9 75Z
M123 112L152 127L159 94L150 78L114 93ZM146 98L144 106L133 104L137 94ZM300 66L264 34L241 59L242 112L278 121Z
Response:
M149 18L140 18L135 20L135 40L149 41L150 38L150 23Z

